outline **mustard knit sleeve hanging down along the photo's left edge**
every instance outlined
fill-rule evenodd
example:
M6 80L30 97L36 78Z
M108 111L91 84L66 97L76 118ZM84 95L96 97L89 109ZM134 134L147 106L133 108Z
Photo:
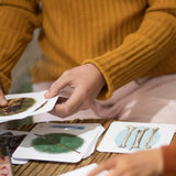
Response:
M0 84L6 94L11 69L40 25L37 0L0 0Z

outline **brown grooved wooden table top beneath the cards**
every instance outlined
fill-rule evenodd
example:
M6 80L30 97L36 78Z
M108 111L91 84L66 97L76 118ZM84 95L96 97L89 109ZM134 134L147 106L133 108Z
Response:
M113 120L74 120L67 123L101 123L107 131L111 122L113 122ZM58 123L62 123L62 122L58 122ZM11 130L30 131L34 128L34 125L35 124L26 124L26 125L13 128ZM98 141L97 146L100 143L101 139L103 138L105 133L101 135L100 140ZM176 134L174 135L172 142L176 142ZM120 155L120 154L101 153L101 152L95 151L92 155L75 164L30 161L24 165L13 165L13 170L14 170L14 176L58 176L69 170L89 165L91 163L100 163L111 156L117 156L117 155Z

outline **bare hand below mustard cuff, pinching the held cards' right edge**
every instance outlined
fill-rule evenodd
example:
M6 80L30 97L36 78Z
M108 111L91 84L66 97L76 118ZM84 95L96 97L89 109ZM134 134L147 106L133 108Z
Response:
M103 76L92 64L85 64L66 70L51 86L48 92L45 94L45 98L56 96L67 86L73 89L73 92L65 102L56 103L51 113L64 118L79 110L88 109L105 85Z

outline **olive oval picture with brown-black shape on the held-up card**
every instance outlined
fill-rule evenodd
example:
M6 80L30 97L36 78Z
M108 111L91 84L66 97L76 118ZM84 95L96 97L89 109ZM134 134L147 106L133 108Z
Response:
M8 106L0 107L0 116L11 116L26 111L36 101L33 98L14 98L8 100Z

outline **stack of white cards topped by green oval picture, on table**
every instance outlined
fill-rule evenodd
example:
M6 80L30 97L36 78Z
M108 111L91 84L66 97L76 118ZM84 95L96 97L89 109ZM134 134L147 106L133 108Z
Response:
M41 123L28 134L13 157L77 163L94 153L103 131L98 123Z

